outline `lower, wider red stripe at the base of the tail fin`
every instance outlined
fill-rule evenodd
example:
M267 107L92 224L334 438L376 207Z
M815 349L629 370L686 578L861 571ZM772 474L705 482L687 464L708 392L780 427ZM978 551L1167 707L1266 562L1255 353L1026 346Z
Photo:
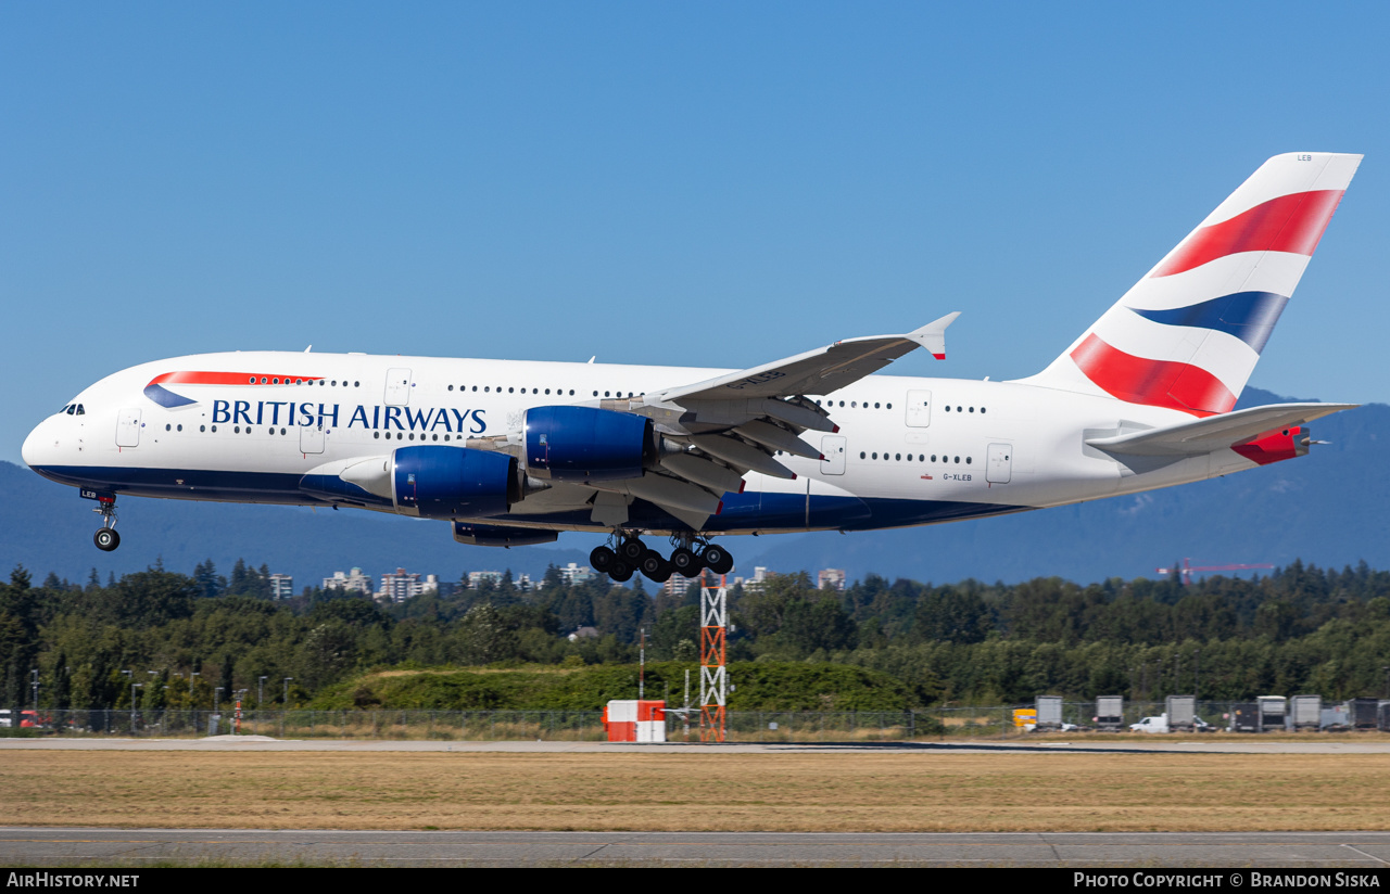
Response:
M1072 351L1072 360L1106 394L1131 404L1182 410L1194 416L1230 412L1236 396L1200 366L1145 360L1111 347L1095 333Z

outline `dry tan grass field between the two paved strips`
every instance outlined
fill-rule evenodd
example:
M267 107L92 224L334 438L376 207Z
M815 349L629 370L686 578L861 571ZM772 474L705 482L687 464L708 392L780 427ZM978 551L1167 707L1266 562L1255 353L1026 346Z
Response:
M10 751L0 825L1390 829L1390 755Z

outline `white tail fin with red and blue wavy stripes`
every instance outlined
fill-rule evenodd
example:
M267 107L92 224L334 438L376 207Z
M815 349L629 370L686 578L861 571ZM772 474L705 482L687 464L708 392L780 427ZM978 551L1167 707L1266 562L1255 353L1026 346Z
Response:
M1275 155L1031 385L1229 412L1361 155Z

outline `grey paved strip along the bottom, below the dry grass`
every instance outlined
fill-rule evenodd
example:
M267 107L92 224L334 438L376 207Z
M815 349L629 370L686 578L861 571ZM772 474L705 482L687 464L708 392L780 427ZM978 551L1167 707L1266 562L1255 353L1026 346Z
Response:
M0 827L0 865L1390 869L1390 833L623 833Z

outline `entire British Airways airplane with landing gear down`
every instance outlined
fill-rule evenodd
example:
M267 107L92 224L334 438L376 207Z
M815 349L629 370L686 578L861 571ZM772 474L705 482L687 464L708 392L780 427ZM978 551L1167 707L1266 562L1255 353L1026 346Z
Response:
M749 369L238 351L86 387L24 443L39 475L118 496L350 507L475 546L606 533L589 562L664 582L714 537L933 525L1133 494L1307 455L1355 404L1233 411L1361 155L1261 165L1037 375L874 375L945 358L958 312ZM669 555L644 537L664 537Z

